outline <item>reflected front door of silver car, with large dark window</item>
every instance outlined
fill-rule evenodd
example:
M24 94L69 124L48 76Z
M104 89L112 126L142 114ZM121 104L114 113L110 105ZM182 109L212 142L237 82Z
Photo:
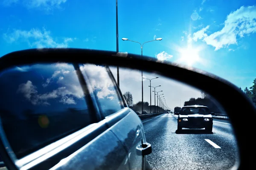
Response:
M79 67L67 63L0 75L0 135L18 169L129 169L125 147L87 89Z

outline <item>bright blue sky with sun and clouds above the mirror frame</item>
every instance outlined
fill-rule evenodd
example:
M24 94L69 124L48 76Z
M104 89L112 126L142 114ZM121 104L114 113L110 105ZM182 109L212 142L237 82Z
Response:
M256 78L255 0L119 0L119 51L200 68L241 88ZM115 0L1 0L0 56L41 47L116 50ZM120 73L121 74L121 73ZM122 87L121 87L122 90Z

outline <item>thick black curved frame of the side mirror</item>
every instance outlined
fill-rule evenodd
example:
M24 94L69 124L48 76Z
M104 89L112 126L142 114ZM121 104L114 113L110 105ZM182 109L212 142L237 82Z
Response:
M254 123L251 122L256 120L256 107L237 86L227 80L195 68L171 62L157 62L157 59L152 57L141 58L140 55L134 54L117 54L112 51L77 48L42 48L15 51L0 58L0 71L18 65L52 62L105 64L155 72L205 91L222 105L230 118L239 146L240 162L238 168L255 168L254 157L248 154L249 151L255 153L255 143L248 137L255 133ZM244 113L249 117L248 120L241 120ZM0 154L8 167L15 169L15 164L12 163L4 149L2 140L0 140Z

